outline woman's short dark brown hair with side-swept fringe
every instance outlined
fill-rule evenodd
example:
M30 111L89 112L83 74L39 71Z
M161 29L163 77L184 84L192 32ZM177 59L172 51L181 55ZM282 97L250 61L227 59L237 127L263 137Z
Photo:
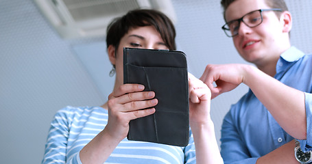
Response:
M119 46L119 42L129 29L136 27L153 26L160 33L161 38L171 50L176 50L176 29L171 20L157 10L131 10L122 17L115 18L106 30L106 44Z

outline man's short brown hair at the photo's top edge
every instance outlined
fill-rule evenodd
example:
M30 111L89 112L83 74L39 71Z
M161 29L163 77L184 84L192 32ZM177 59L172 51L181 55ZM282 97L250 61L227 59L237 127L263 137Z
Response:
M228 9L228 6L234 1L235 0L221 0L221 5L224 10L224 20L226 20L226 10ZM269 6L269 8L280 8L283 11L288 11L284 0L265 0L265 3ZM280 17L280 12L275 12L275 14L278 16L278 18Z

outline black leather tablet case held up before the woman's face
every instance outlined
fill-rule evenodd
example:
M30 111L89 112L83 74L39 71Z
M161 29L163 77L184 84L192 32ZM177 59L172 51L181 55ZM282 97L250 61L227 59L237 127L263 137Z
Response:
M129 140L187 146L189 85L183 52L124 48L123 83L143 84L158 99L154 114L130 121Z

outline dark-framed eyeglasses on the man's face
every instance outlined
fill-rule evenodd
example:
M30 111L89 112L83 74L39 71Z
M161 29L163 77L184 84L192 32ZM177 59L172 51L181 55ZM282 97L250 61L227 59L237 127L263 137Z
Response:
M241 25L241 22L243 22L246 26L250 28L259 26L263 21L262 12L266 11L283 12L283 10L278 8L254 10L252 12L249 12L248 14L245 14L239 19L231 20L221 28L226 33L226 36L237 36L239 34L239 25Z

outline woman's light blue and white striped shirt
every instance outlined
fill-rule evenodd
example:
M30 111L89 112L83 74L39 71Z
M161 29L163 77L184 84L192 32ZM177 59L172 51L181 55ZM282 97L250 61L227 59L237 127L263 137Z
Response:
M108 111L101 107L65 107L51 122L42 163L82 163L79 152L106 126ZM190 131L189 145L169 146L123 139L106 163L196 163Z

